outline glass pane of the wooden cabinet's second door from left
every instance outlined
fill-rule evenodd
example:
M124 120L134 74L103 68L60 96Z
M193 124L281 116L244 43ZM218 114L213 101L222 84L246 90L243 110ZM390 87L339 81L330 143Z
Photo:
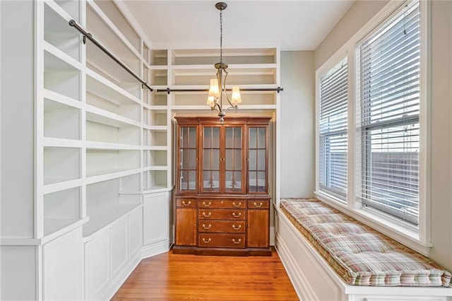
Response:
M203 126L203 191L220 191L220 126Z

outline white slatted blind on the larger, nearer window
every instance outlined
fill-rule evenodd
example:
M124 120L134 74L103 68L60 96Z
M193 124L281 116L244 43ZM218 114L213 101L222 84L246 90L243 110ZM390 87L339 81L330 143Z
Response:
M371 207L419 216L420 7L415 1L359 47L361 191Z

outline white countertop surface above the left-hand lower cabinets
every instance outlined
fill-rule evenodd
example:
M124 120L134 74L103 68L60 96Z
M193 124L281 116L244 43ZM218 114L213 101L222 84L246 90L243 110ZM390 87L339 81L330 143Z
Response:
M103 211L88 213L90 221L83 225L84 240L90 240L91 235L108 227L119 218L138 210L141 206L143 206L141 203L114 203Z

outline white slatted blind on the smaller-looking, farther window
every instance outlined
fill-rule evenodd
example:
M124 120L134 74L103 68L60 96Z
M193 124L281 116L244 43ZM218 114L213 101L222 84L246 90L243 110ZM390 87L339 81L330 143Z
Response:
M347 57L320 79L319 189L345 201L347 191Z

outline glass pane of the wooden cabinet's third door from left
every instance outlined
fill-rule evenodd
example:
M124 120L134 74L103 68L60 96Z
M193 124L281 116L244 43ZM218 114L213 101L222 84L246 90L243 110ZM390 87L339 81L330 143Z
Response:
M242 126L225 126L225 191L242 192Z

